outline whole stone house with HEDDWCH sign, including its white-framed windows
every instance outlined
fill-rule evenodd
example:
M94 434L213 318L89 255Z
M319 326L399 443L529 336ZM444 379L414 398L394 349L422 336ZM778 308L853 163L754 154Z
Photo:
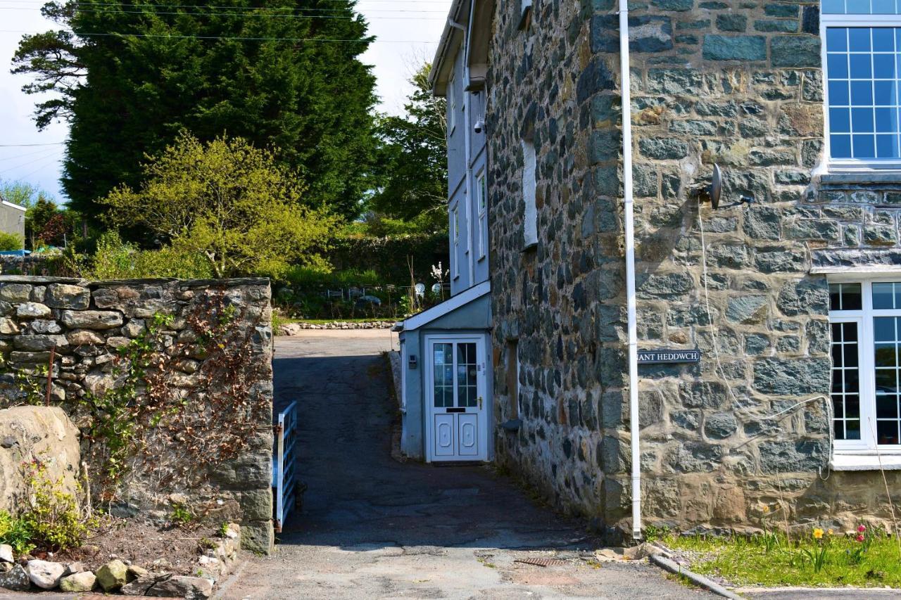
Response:
M445 31L486 54L495 460L613 536L633 500L680 529L887 521L901 5L619 4L457 2ZM638 349L699 361L630 368L630 286Z

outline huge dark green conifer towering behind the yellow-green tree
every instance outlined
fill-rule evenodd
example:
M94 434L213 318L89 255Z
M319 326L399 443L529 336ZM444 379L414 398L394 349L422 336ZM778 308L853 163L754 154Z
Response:
M353 0L69 0L42 12L70 32L25 35L14 72L50 98L37 104L39 128L70 124L62 184L73 209L96 221L96 200L140 186L145 157L187 130L278 148L308 204L359 214L375 79L359 60L371 38Z

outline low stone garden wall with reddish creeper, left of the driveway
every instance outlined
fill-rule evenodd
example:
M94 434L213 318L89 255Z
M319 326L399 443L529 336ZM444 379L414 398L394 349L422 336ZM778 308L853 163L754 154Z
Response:
M267 279L0 277L4 405L50 403L82 433L114 514L174 505L242 524L268 551L272 333Z

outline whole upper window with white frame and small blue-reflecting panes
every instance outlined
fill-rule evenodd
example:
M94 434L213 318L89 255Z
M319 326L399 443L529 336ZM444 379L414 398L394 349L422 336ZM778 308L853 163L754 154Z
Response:
M901 169L898 8L895 2L824 0L820 38L830 171Z

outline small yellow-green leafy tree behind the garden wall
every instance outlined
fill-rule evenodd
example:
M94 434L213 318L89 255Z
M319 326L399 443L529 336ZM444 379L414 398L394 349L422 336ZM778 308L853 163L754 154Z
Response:
M101 201L110 223L145 228L174 250L204 256L216 277L279 277L291 264L325 264L319 250L339 219L305 206L300 178L269 150L182 133L143 175L137 191L117 187Z

